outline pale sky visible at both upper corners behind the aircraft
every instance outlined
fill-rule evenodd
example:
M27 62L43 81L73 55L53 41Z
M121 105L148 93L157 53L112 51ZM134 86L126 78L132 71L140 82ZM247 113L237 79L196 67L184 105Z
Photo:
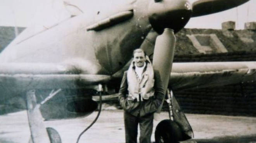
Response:
M0 0L0 26L16 25L17 27L28 27L36 13L41 12L40 8L47 7L45 1L46 0ZM47 1L57 5L57 1L59 0ZM195 0L190 0L191 3L194 1ZM35 5L38 7L35 7ZM256 22L255 7L256 0L250 0L244 5L224 12L191 18L185 28L221 29L222 22L235 21L236 29L244 29L245 22ZM51 11L48 11L48 13L48 15L52 15ZM65 14L65 12L62 12L62 17L65 17ZM42 17L40 20L44 20L45 18L46 17Z

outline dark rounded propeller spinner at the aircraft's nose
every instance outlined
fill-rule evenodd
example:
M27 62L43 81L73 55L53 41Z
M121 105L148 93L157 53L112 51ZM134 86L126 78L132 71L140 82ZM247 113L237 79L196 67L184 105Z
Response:
M192 6L188 0L151 0L148 8L149 22L157 33L164 28L181 30L189 21Z

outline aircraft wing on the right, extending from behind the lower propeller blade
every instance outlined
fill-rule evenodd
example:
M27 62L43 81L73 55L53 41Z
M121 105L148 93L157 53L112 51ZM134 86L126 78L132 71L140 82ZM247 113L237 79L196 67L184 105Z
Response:
M182 90L254 82L255 73L256 62L173 63L169 85Z

